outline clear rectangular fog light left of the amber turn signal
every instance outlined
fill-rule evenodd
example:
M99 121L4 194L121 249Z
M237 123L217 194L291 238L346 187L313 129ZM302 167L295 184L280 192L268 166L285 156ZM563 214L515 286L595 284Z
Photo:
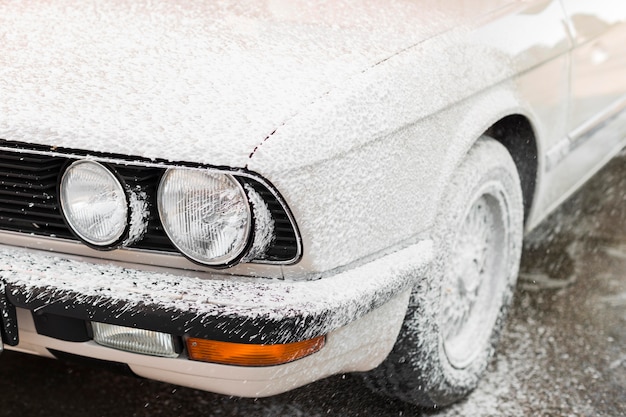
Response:
M178 356L176 341L171 334L97 322L92 322L91 327L93 340L100 345L144 355Z

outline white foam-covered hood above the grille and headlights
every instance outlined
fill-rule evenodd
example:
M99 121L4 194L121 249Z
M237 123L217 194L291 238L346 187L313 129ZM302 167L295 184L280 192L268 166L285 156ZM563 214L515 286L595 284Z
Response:
M2 2L0 138L245 167L304 106L468 14L309 3Z

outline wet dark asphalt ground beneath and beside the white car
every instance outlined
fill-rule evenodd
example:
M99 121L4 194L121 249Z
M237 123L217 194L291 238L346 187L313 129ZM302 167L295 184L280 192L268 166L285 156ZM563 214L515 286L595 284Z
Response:
M230 398L4 352L2 416L626 416L626 153L529 239L497 359L443 410L339 375L269 399Z

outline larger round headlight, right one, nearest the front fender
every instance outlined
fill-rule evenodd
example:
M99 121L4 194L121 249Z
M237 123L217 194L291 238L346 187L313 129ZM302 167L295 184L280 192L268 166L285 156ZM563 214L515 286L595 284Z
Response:
M227 174L169 169L158 191L165 232L190 259L226 265L248 245L252 217L241 184Z

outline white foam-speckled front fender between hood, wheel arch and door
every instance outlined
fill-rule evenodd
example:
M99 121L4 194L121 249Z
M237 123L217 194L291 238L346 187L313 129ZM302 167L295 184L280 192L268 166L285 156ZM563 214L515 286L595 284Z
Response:
M512 4L477 27L406 50L312 104L259 147L248 167L272 178L303 237L304 258L284 267L285 276L336 268L427 234L455 167L507 114L532 119L542 150L565 137L563 56L571 44L560 6L548 3ZM545 31L531 30L534 19ZM504 27L519 41L502 42L496 34ZM319 120L334 123L309 127ZM285 154L289 164L276 164Z

